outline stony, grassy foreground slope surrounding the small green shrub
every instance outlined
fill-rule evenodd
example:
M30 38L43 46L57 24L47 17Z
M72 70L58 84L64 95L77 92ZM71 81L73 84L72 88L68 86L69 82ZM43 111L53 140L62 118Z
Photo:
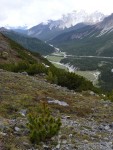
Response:
M42 76L0 70L0 150L113 150L113 103L92 91L77 93ZM29 141L27 114L45 101L60 116L59 134Z

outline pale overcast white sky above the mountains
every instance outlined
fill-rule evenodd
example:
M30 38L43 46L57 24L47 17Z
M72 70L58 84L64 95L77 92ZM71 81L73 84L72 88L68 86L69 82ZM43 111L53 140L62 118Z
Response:
M0 27L32 27L63 14L85 10L113 13L113 0L0 0Z

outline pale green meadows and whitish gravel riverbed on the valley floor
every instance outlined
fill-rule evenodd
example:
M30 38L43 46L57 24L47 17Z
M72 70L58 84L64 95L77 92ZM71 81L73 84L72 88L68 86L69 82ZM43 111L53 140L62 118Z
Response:
M70 65L70 63L67 63L67 64L60 63L60 61L62 59L67 58L67 57L68 57L68 55L66 55L65 52L56 52L56 53L53 53L51 55L46 56L46 58L51 63L53 63L56 67L61 68L61 69L65 69L69 72L75 72L76 74L81 75L81 76L85 77L86 79L88 79L89 81L91 81L93 83L93 85L98 84L98 77L100 74L99 71L97 71L97 70L95 70L95 71L78 71L77 68L75 67L76 64L73 66L73 65ZM81 57L81 58L85 57L86 58L86 56L79 56L79 57ZM94 57L94 56L88 56L88 57L90 58L90 57ZM77 58L77 56L76 56L76 58Z

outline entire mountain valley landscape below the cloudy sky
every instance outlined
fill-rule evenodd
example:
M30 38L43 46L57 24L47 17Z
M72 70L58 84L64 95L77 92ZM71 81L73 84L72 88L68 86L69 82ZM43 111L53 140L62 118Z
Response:
M0 28L0 150L113 150L113 14Z

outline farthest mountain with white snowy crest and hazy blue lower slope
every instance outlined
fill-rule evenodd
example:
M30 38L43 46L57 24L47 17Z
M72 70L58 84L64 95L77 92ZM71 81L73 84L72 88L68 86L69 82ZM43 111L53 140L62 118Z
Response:
M85 11L73 11L59 20L49 20L46 24L41 23L28 30L28 35L37 37L41 40L51 40L57 35L83 27L83 24L95 24L104 19L104 15L99 12L87 14ZM78 24L78 25L77 25ZM77 26L76 26L77 25ZM75 26L73 28L73 26ZM72 28L71 28L72 27Z

